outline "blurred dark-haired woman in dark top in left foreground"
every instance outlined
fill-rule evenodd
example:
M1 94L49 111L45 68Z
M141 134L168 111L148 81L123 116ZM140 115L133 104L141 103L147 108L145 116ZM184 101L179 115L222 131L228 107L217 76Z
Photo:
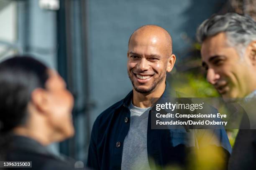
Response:
M32 161L36 170L74 169L75 161L45 147L74 135L73 102L64 80L41 62L19 56L1 62L0 161Z

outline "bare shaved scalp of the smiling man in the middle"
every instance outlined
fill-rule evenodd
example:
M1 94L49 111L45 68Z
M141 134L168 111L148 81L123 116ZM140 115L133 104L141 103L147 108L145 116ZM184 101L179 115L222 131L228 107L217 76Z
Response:
M135 30L129 38L128 47L130 42L134 40L136 36L142 37L158 37L164 42L164 49L166 50L167 56L172 55L172 37L167 30L157 25L143 25Z

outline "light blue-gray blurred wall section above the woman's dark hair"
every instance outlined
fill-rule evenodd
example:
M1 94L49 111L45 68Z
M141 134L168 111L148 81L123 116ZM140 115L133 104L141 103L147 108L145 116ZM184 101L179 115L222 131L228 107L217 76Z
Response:
M25 2L18 1L19 41L28 47L24 52L56 69L56 11L41 9L38 0Z

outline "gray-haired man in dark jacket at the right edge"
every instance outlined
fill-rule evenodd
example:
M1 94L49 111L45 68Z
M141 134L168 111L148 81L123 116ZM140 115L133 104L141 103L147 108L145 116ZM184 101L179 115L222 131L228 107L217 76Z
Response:
M207 81L223 98L256 97L256 22L236 13L216 15L197 30ZM256 130L239 130L230 170L256 169Z

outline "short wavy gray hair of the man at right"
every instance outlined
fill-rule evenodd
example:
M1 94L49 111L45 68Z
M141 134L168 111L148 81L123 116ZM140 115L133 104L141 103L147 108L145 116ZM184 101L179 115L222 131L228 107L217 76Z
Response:
M197 40L202 43L207 37L220 32L225 32L228 45L238 47L238 53L243 56L250 42L256 40L256 22L249 16L237 13L215 15L197 28Z

